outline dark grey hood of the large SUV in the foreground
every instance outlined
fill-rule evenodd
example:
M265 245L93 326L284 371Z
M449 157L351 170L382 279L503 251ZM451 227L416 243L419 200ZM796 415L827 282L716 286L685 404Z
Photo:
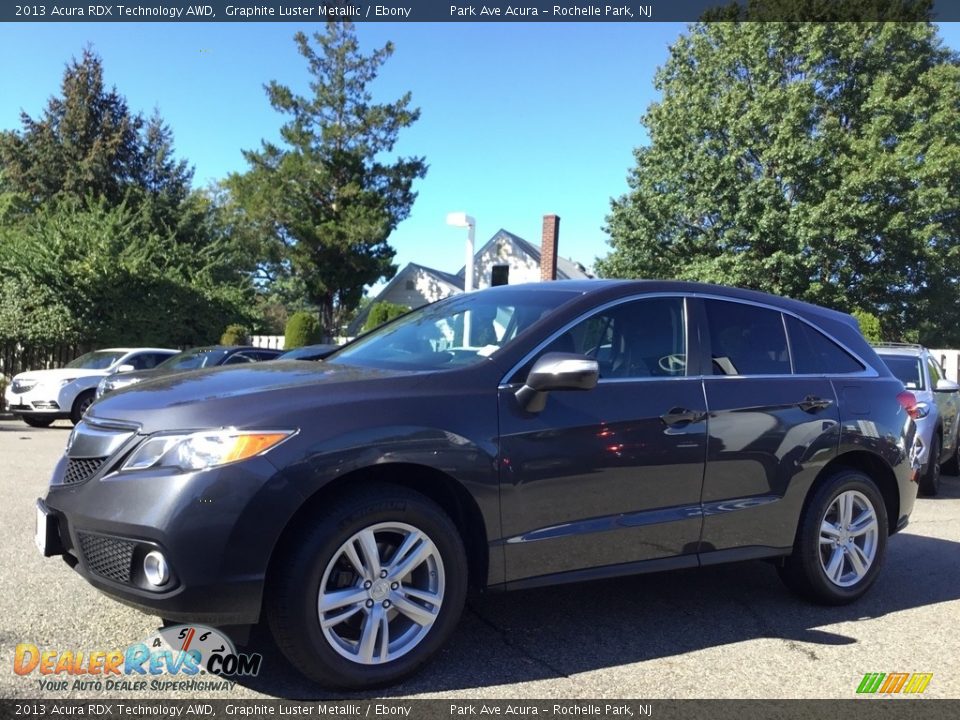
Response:
M136 423L143 432L284 427L300 412L395 396L424 375L302 360L161 373L104 395L87 417Z

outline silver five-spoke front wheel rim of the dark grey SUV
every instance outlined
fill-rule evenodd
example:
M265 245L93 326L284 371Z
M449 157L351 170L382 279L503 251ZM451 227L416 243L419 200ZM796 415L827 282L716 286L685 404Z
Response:
M426 533L406 523L371 525L341 545L324 570L320 628L348 660L391 662L430 632L445 584L443 559Z

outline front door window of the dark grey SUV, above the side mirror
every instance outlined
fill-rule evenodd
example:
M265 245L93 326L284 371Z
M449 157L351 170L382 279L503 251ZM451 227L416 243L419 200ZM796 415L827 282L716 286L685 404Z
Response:
M543 352L594 358L601 378L685 375L683 307L682 298L648 298L617 305L578 323Z

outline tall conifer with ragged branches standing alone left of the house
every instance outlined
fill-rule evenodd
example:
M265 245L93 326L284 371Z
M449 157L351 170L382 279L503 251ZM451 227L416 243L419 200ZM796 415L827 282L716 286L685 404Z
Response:
M267 96L289 116L284 147L264 141L244 153L250 169L229 185L251 218L274 229L283 263L319 308L327 337L357 305L364 285L396 272L390 233L416 198L413 182L426 174L423 158L391 158L398 134L420 115L410 94L379 104L368 88L393 53L387 43L360 52L349 23L330 22L294 37L312 76L312 97L274 81Z

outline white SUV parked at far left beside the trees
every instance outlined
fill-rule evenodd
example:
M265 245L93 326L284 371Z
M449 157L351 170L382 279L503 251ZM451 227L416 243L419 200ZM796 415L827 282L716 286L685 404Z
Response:
M76 425L93 402L101 378L146 370L176 353L169 348L94 350L62 368L16 375L4 399L9 411L32 427L47 427L58 418L69 418Z

